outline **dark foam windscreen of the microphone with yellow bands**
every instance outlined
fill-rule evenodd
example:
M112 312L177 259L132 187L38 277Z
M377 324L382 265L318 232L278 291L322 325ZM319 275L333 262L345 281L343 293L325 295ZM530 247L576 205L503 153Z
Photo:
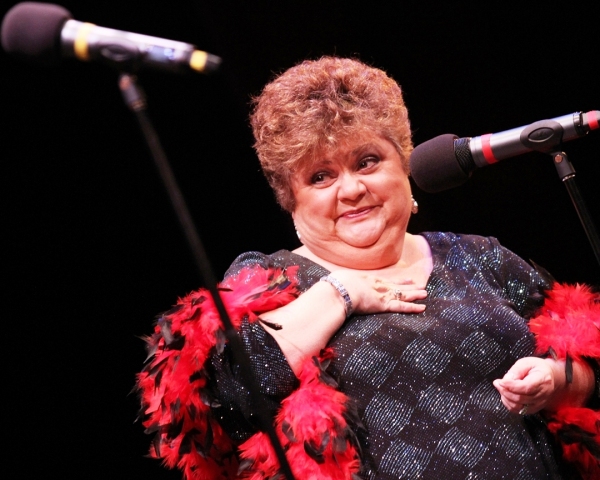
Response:
M60 34L68 10L50 3L23 2L2 21L2 47L23 60L51 65L60 60Z

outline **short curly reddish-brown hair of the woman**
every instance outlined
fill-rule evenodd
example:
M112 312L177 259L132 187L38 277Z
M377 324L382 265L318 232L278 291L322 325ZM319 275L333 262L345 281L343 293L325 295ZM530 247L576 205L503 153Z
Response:
M262 170L288 212L295 208L294 173L349 136L383 136L409 172L413 145L402 91L384 71L358 60L323 57L286 70L253 99L250 122Z

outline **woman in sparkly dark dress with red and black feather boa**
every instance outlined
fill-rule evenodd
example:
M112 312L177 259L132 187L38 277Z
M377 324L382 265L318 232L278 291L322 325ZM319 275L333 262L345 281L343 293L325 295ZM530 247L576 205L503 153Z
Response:
M523 318L549 286L534 269L494 239L406 232L417 205L399 86L355 60L307 61L265 87L251 120L302 246L240 256L221 287L296 477L562 478L536 414L574 408L600 437L585 408L597 363L582 358L600 356L597 328L585 323L587 350L536 356L558 347L536 350ZM275 478L219 332L201 291L160 317L139 377L154 455L229 478L235 453L247 478ZM580 470L595 474L588 450Z

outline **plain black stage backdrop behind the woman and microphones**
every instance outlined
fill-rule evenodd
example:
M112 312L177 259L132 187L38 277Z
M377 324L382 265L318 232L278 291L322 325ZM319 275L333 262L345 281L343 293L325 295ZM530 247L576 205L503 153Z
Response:
M535 3L535 2L531 2ZM597 1L64 1L101 26L194 43L220 75L142 72L150 115L220 277L247 250L298 245L247 122L273 73L358 57L402 86L415 143L600 109ZM4 1L2 16L12 6ZM199 274L117 74L0 53L3 464L11 478L180 478L143 458L140 336ZM600 132L565 145L599 218ZM430 195L410 231L493 235L558 279L599 284L549 157L529 154ZM8 450L7 450L8 445Z

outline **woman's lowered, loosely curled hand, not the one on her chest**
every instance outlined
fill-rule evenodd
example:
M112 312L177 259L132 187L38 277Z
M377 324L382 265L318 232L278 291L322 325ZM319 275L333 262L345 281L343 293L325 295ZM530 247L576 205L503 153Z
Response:
M564 370L554 362L525 357L517 360L502 379L494 380L504 406L521 415L539 412L564 384Z

